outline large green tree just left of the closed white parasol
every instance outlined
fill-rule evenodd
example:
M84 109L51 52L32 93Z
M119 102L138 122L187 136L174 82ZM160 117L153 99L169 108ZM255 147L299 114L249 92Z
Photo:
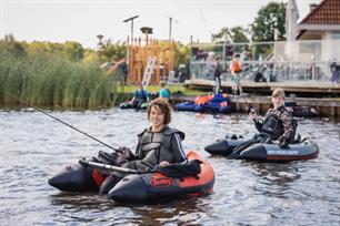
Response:
M284 40L286 34L286 8L283 2L269 2L262 7L253 23L250 24L252 41L274 41L274 32L278 31L277 41Z

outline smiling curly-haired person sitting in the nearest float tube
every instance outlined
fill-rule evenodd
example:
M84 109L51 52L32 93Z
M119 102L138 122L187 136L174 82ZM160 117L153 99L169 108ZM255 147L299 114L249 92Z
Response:
M137 171L153 170L154 166L168 166L173 163L187 163L181 141L184 133L169 127L171 106L161 99L151 102L147 110L150 127L138 134L136 154L128 147L120 147L122 157L129 162L122 165ZM100 194L107 194L119 181L119 174L109 176L100 187Z

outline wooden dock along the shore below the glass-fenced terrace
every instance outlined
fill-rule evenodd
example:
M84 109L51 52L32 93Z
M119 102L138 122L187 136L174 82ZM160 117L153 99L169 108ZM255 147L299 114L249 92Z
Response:
M194 89L211 91L213 81L187 81L187 85ZM231 83L223 82L223 90L230 91ZM266 114L272 106L270 93L276 88L282 88L288 94L294 93L297 97L286 97L286 102L294 102L298 106L310 106L317 110L318 116L340 117L340 97L299 97L299 95L336 95L340 96L340 84L331 85L330 82L280 82L280 83L254 83L242 82L244 95L230 95L230 102L234 112L247 112L250 107L257 109L260 114ZM257 93L257 94L253 94ZM261 94L261 95L259 95ZM266 94L266 95L263 95ZM174 103L194 101L196 96L172 96ZM244 101L246 100L246 101Z

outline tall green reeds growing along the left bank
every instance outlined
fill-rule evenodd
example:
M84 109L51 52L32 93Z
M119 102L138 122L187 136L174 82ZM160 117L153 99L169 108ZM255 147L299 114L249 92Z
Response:
M97 63L74 63L51 54L14 55L0 51L1 105L20 105L10 97L14 95L37 105L106 107L119 99L116 91L121 80L121 73L107 75Z

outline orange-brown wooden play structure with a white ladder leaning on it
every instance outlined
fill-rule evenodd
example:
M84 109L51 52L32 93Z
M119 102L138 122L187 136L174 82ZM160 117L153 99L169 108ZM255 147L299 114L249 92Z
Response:
M148 32L143 33L144 40L140 37L127 39L127 83L148 86L167 80L173 71L174 42L170 40L161 47L158 40L149 39Z

